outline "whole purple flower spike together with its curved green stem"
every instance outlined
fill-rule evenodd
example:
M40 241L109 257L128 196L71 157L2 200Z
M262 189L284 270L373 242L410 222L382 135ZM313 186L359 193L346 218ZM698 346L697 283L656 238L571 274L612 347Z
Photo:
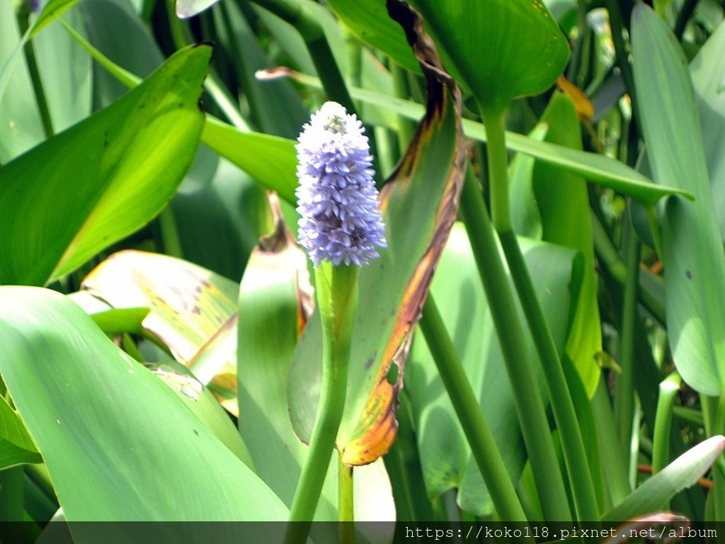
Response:
M304 543L325 483L342 419L352 329L357 314L358 268L385 247L372 157L363 125L336 102L323 104L297 145L299 243L315 265L315 296L322 321L320 402L290 508L285 542ZM352 474L343 482L341 522L352 520Z

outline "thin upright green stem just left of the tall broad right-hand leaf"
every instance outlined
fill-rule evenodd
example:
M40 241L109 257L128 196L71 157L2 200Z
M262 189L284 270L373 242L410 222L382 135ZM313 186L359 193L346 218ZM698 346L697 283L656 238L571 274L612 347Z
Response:
M631 210L631 208L629 208ZM634 319L637 313L637 275L639 273L639 241L629 214L624 224L624 252L626 254L626 279L622 300L622 321L618 364L621 374L617 379L614 395L614 413L617 420L619 440L629 445L634 418ZM627 460L629 465L629 458Z

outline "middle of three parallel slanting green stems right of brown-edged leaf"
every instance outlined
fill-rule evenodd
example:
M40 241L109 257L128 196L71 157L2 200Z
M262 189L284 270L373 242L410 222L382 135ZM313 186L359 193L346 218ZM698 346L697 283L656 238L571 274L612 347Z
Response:
M463 184L460 210L489 300L544 516L550 521L571 521L563 477L539 385L534 378L534 368L526 350L523 328L498 250L496 234L476 184L476 176L469 165Z

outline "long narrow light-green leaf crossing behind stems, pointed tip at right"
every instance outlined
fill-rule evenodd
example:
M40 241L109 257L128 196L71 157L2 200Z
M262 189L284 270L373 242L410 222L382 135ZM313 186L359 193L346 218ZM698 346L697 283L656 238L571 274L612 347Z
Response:
M278 73L278 75L289 75L305 85L320 88L320 80L310 75L294 73L289 70L284 70L283 73ZM397 115L419 120L425 113L425 108L421 104L394 98L376 91L352 87L350 92L355 99L361 102L376 104L382 109L395 114L376 118L376 122L384 123L389 128L398 128ZM471 139L486 141L486 129L481 123L464 119L463 131ZM514 132L506 133L506 145L511 151L531 155L531 157L536 157L542 162L586 178L588 181L627 194L644 204L654 204L660 198L670 194L681 194L692 199L692 194L689 191L653 184L649 178L643 176L637 170L633 170L623 162L603 154L584 152L579 149L550 144L546 141L537 141L537 139Z

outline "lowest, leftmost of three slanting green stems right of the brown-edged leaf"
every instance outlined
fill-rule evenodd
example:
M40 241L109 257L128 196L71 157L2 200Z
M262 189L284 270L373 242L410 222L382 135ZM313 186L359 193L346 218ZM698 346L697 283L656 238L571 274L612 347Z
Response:
M423 306L421 330L499 516L507 522L525 522L501 453L431 294Z

